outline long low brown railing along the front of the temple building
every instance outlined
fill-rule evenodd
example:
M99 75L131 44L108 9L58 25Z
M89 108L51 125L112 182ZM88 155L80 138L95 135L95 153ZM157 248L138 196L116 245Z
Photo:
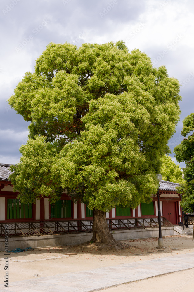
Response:
M0 236L5 236L5 224L9 237L13 236L41 236L49 234L70 234L80 232L92 232L92 220L69 221L31 221L0 223ZM158 228L158 218L130 218L107 219L109 230L131 230L139 228ZM174 226L166 218L161 218L162 227Z

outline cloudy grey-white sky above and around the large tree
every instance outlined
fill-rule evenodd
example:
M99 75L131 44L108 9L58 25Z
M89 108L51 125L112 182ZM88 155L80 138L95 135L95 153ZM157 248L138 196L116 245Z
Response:
M25 72L50 42L102 44L124 40L179 80L181 120L169 141L171 157L183 119L194 112L194 2L189 0L1 0L0 163L19 161L28 123L8 105ZM184 166L181 163L180 166Z

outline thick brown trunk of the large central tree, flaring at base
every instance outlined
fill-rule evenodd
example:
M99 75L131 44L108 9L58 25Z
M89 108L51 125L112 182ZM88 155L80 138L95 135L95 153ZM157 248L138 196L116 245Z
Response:
M101 242L112 248L119 249L121 244L118 244L110 233L107 222L106 212L93 209L93 237L91 241Z

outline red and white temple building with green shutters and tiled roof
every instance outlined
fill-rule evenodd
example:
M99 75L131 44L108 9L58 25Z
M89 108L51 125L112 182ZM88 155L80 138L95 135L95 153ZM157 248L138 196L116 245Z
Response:
M9 181L11 174L9 166L9 164L0 164L0 236L3 236L6 224L9 227L10 237L20 237L20 241L21 237L27 239L29 236L48 237L55 235L56 237L63 235L67 239L68 235L73 236L73 234L72 238L68 237L66 241L60 239L58 243L70 244L72 239L72 242L76 244L78 234L86 234L83 239L80 239L82 242L90 240L92 210L88 208L87 204L73 202L66 192L62 192L60 201L56 203L50 204L48 197L44 197L40 200L36 199L36 204L21 204L20 200L17 199L18 192L13 192L13 185ZM177 186L179 186L178 183L160 181L163 235L174 234L173 227L182 221L181 200L180 194L176 192ZM141 203L136 209L121 209L116 206L106 212L107 224L116 239L157 236L157 216L158 200L156 194L152 195L150 204ZM51 240L50 246L52 246L52 242ZM43 245L49 246L48 244L44 243Z

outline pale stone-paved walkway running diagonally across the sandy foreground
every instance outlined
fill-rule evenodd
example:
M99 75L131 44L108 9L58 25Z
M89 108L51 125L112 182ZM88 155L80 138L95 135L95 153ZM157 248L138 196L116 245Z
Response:
M89 292L194 267L194 253L18 281L0 292ZM50 267L52 268L52 267Z

